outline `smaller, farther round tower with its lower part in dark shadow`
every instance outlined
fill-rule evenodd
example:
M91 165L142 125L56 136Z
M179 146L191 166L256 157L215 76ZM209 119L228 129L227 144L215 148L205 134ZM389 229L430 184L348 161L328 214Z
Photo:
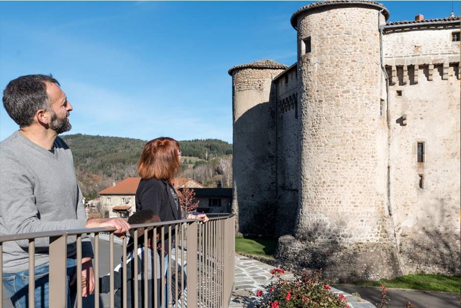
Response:
M275 104L272 79L286 65L271 60L234 66L233 202L237 231L271 236L275 201Z

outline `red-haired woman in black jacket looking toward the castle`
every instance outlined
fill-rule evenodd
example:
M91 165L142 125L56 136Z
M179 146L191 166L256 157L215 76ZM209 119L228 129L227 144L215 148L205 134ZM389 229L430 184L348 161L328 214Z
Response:
M149 141L137 163L141 182L136 190L136 211L150 209L160 220L199 219L208 221L205 214L192 215L181 210L176 190L171 184L181 170L182 151L179 143L168 137Z

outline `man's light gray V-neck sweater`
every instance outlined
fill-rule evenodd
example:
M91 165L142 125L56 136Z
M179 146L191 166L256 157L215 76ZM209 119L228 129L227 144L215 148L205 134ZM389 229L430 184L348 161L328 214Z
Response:
M0 143L0 235L85 228L86 215L72 153L59 137L54 154L19 131ZM76 254L75 236L67 256ZM49 238L35 240L35 266L48 262ZM83 257L92 257L89 238ZM28 269L28 241L3 244L5 273Z

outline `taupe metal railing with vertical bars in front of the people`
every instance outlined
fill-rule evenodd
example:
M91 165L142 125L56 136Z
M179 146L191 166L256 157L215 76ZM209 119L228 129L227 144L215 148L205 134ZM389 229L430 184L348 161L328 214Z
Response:
M234 283L235 266L235 217L233 215L210 218L207 223L196 220L178 220L165 223L150 223L131 225L134 229L133 246L128 245L127 238L122 240L122 287L114 289L114 229L93 228L78 230L63 230L55 232L41 232L0 236L0 285L3 284L3 243L8 241L29 241L29 290L28 305L34 307L34 267L35 267L35 239L49 238L49 306L62 308L67 305L67 278L66 259L68 237L75 237L77 246L76 271L77 271L77 297L76 307L82 307L82 238L86 235L94 237L93 269L95 277L94 307L100 306L99 296L101 290L98 277L101 274L99 262L100 235L108 233L109 237L109 280L110 304L114 307L115 293L120 292L126 299L127 281L130 280L134 290L131 294L133 307L143 308L152 306L160 307L228 307ZM139 227L145 227L144 234L137 234ZM155 240L154 240L155 239ZM134 247L128 248L127 247ZM138 256L137 247L142 247ZM148 247L153 247L154 254L158 257L148 256ZM127 257L130 258L133 270L131 277L127 275ZM138 258L139 257L139 258ZM107 258L107 256L104 256ZM148 259L152 259L151 266ZM139 260L138 260L139 259ZM168 262L167 262L168 261ZM139 264L139 262L143 262ZM158 264L160 262L160 264ZM149 268L150 267L150 268ZM157 269L159 268L159 269ZM149 269L153 271L148 273ZM158 273L160 271L160 273ZM139 275L137 275L139 273ZM157 274L161 277L155 279ZM143 277L153 277L151 290ZM160 285L158 285L160 284ZM157 290L160 288L160 295ZM139 290L141 289L141 290ZM140 292L138 294L138 291ZM141 299L150 298L151 303ZM158 298L160 296L160 298ZM4 295L0 292L0 303ZM127 306L126 300L121 303Z

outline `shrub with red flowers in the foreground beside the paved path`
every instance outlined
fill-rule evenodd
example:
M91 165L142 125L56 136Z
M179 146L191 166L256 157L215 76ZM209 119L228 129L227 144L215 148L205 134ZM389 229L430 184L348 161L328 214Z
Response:
M346 297L331 292L329 283L321 279L321 271L304 270L294 274L293 279L282 279L283 269L274 268L270 271L277 280L267 286L268 293L263 296L257 291L257 296L263 296L259 304L261 308L347 308Z

